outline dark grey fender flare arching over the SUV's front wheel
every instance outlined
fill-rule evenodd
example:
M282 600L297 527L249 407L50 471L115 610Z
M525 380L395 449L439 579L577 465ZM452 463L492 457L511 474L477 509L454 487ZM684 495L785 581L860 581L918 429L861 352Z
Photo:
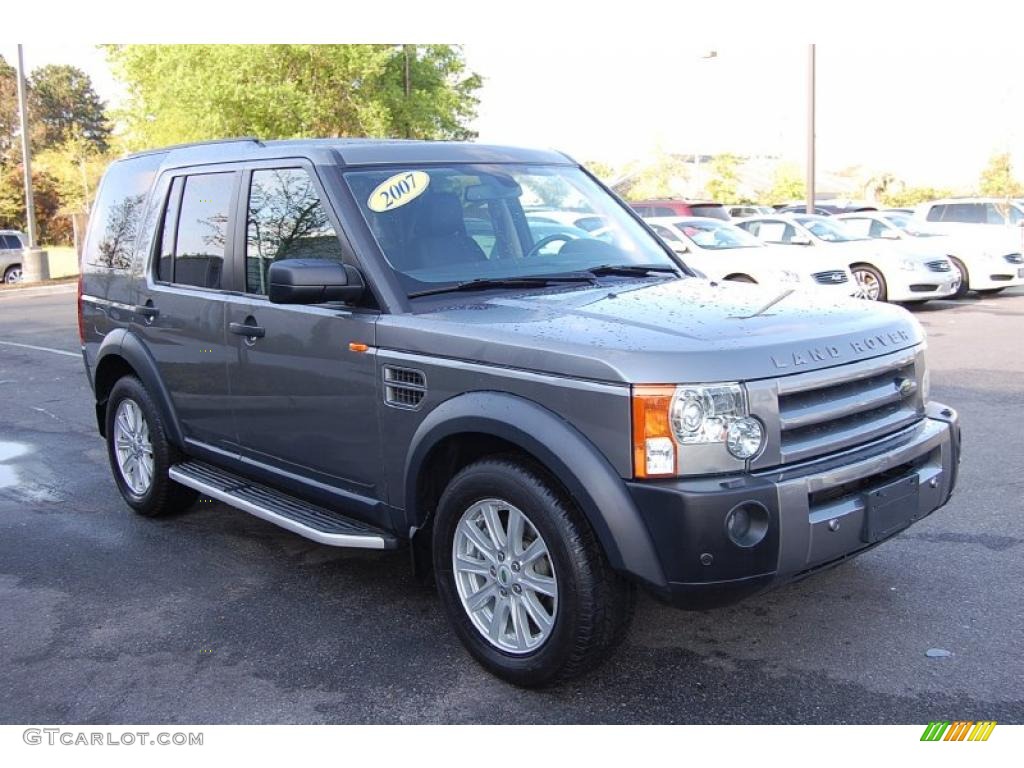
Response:
M410 444L403 483L407 514L417 524L425 522L424 512L415 508L420 472L431 449L459 433L493 435L530 454L571 495L613 568L655 588L667 586L647 526L607 459L557 414L504 392L458 395L421 422Z

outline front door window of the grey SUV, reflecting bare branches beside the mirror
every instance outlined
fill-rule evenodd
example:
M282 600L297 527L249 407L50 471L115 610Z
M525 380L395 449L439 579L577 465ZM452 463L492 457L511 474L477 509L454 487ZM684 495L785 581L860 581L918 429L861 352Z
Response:
M316 186L299 168L253 171L246 291L265 295L267 270L280 259L342 259L341 243Z

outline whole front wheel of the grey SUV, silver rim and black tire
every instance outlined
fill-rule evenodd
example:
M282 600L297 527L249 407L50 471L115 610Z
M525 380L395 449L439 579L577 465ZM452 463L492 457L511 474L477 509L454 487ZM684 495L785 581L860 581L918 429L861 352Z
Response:
M459 639L516 685L593 669L632 618L633 585L611 570L580 511L524 461L486 459L455 476L438 503L433 557Z

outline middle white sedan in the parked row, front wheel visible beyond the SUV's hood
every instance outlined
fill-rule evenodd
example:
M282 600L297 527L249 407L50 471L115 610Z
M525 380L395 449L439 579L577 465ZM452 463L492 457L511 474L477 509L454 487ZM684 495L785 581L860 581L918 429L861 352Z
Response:
M871 301L927 301L952 296L959 287L954 270L939 272L929 266L931 257L899 243L858 236L833 216L778 214L744 219L738 226L765 243L841 258L853 272L860 296Z

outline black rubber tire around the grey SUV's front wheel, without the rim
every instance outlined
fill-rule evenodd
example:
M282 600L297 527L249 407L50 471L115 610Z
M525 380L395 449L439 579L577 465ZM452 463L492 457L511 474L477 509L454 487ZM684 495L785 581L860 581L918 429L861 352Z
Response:
M557 583L554 623L539 646L525 652L492 644L460 596L453 565L456 532L464 514L482 500L501 500L523 513L543 539ZM437 590L456 634L477 662L504 680L538 687L577 677L604 660L626 636L636 602L634 585L610 568L586 518L531 463L490 458L459 472L438 503L432 548ZM488 583L498 589L500 578ZM493 612L498 597L494 600Z

